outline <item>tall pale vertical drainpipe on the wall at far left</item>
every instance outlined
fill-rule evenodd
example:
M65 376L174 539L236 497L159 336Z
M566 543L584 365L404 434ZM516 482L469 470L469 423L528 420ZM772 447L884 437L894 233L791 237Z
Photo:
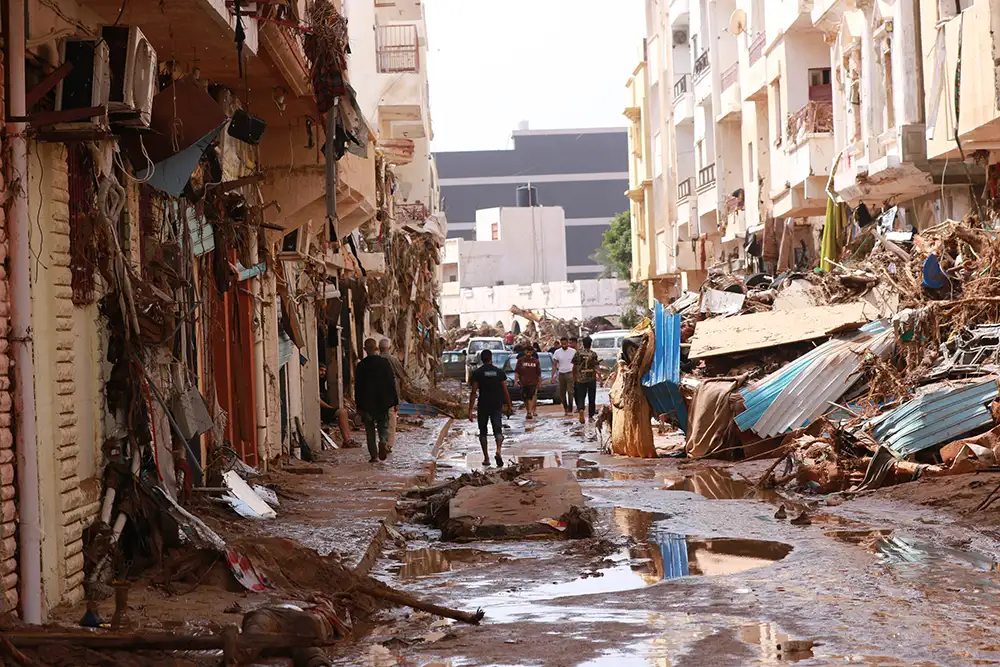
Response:
M10 113L24 116L25 0L7 3L7 74ZM19 566L24 621L42 622L42 527L38 502L38 442L35 437L35 363L31 341L31 277L28 233L28 141L24 123L7 125L10 142L10 344L14 352L14 437L17 449Z

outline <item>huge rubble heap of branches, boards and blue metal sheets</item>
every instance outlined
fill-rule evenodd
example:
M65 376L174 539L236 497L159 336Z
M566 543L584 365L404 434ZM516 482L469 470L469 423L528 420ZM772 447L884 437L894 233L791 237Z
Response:
M1000 457L1000 238L975 219L853 230L826 269L711 276L633 331L611 448L774 458L759 484L864 491ZM988 499L992 502L992 497Z

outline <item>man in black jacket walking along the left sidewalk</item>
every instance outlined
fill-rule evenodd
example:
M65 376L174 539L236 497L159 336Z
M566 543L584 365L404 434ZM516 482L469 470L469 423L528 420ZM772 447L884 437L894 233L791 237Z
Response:
M365 358L358 364L354 380L354 402L365 423L368 436L369 463L384 461L389 456L389 411L399 407L396 377L392 364L379 356L374 338L365 341ZM378 447L375 435L378 433Z

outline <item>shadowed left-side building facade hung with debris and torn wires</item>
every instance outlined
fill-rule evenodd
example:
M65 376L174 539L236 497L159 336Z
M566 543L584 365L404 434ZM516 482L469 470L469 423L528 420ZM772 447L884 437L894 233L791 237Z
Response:
M0 582L37 623L161 515L200 535L225 466L322 449L365 337L431 378L447 230L417 0L5 6Z

